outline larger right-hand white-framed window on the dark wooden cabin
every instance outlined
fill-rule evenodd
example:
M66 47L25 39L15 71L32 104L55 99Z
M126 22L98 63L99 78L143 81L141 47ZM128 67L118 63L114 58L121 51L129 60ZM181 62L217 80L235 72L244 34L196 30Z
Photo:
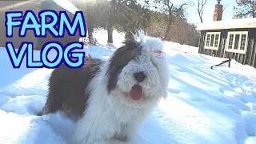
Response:
M246 54L248 31L232 31L227 34L226 51Z

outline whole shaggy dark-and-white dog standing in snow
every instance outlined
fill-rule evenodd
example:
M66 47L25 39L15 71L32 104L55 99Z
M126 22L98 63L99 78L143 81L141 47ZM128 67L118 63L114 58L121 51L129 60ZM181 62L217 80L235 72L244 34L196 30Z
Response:
M86 57L80 69L58 67L50 75L42 114L76 115L73 144L126 142L166 98L169 76L162 47L159 38L139 31L106 62Z

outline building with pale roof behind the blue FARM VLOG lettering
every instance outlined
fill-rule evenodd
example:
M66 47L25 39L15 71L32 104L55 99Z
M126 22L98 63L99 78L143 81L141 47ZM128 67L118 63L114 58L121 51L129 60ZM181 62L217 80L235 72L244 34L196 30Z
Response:
M62 1L62 0L58 0ZM62 8L62 6L59 6L56 2L57 0L6 0L6 1L0 1L0 31L2 32L0 36L0 47L5 47L6 42L13 42L14 47L18 48L22 42L34 42L34 49L40 50L42 46L46 42L61 42L62 45L66 45L69 42L76 42L79 41L79 34L77 32L76 36L69 36L67 33L65 33L64 38L54 38L48 31L46 38L35 38L34 37L34 31L28 30L26 33L25 38L20 38L18 36L18 27L15 27L14 30L14 36L13 38L6 38L6 27L5 27L5 13L6 11L22 11L23 14L26 10L33 10L34 14L36 14L38 18L38 12L40 10L55 10L55 11L66 11L69 15L70 19L73 19L74 14L70 11L67 11ZM63 3L63 2L62 2ZM72 6L71 6L72 7ZM38 18L39 19L39 18Z

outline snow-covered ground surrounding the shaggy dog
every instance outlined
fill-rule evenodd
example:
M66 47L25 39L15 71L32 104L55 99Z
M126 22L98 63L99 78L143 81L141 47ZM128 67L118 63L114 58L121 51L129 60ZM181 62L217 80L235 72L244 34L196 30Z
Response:
M103 46L85 50L103 59L114 52ZM174 42L166 42L165 51L169 96L159 102L130 143L255 144L256 70L234 61L231 68L224 65L211 70L223 59L197 54L198 48ZM38 58L39 51L34 53ZM54 51L50 55L54 57ZM0 48L0 143L65 144L74 122L60 112L35 116L46 102L52 70L26 69L24 64L14 70L6 50Z

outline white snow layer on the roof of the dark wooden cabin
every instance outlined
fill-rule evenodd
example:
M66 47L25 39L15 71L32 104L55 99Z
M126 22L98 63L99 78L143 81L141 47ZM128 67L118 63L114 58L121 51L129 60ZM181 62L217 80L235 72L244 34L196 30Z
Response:
M197 26L197 30L220 30L238 28L256 28L256 18L227 19L216 22L205 22Z

